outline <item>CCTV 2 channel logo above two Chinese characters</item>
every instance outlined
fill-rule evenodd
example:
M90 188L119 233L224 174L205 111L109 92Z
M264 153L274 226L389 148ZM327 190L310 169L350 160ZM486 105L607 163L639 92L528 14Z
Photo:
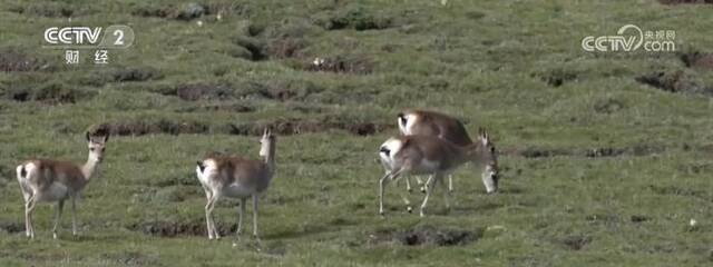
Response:
M45 47L49 48L120 49L133 43L134 30L128 26L109 26L104 32L101 27L50 27L45 30Z

